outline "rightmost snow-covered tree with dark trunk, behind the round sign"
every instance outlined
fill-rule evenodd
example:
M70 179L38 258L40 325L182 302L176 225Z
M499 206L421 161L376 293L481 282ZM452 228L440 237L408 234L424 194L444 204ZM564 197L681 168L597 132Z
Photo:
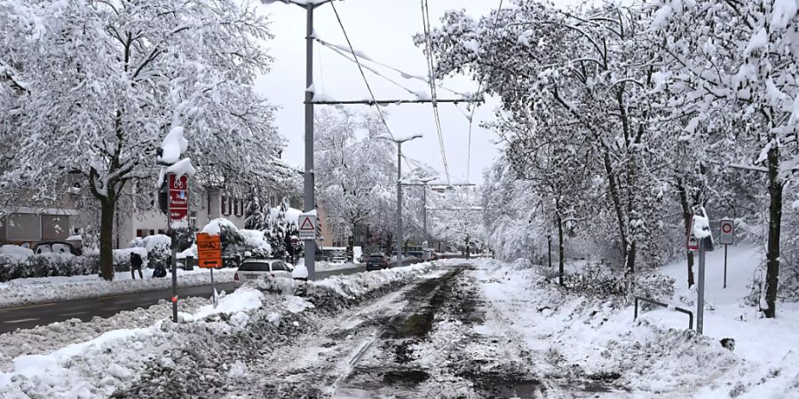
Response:
M712 129L724 115L738 129L719 134L728 168L763 172L769 223L764 313L776 316L783 189L795 179L799 116L799 18L792 0L659 1L653 35L661 38L663 84L692 112L687 134Z

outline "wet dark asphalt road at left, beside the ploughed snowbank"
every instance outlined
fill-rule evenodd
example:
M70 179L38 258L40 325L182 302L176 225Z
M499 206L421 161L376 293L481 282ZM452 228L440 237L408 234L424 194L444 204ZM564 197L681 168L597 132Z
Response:
M336 275L354 274L366 271L365 266L352 269L320 271L314 280L320 280ZM237 283L217 285L218 291L233 292ZM208 286L186 286L178 288L178 298L202 296L210 298L213 289ZM123 310L148 308L159 300L169 300L172 290L146 291L142 293L125 293L101 298L91 298L75 301L59 301L37 305L20 306L16 308L0 309L0 333L12 332L18 328L33 328L37 325L79 318L89 321L92 317L112 317Z

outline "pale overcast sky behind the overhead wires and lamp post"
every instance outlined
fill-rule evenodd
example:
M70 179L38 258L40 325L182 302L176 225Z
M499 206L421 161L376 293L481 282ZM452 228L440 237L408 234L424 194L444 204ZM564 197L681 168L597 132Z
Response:
M507 2L510 3L510 2ZM431 24L439 26L439 17L447 10L465 9L479 16L490 12L499 4L498 0L430 0ZM302 166L304 144L305 96L305 10L291 4L260 5L272 21L275 36L269 43L274 57L272 72L258 80L257 89L270 101L280 106L277 125L281 134L289 139L283 159L292 165ZM422 9L417 0L344 0L336 1L336 9L344 21L356 51L362 51L371 59L398 67L409 74L427 75L423 51L414 45L412 36L422 32ZM325 4L314 12L316 34L330 43L344 44L344 35L336 21L331 6ZM368 91L358 67L333 51L314 44L314 82L317 91L339 100L368 98ZM382 71L381 71L382 72ZM402 79L399 74L386 71L395 81L415 91L430 91L425 83ZM396 99L413 96L391 82L367 72L367 77L378 99ZM465 77L448 80L447 87L464 92L478 88L476 82ZM454 98L455 95L439 90L439 98ZM493 117L496 103L480 106L475 115L471 143L471 182L482 181L482 171L498 154L492 132L480 129L479 121ZM321 106L317 106L317 109ZM353 106L367 110L367 106ZM433 120L432 106L403 105L388 106L389 128L395 136L417 133L423 138L403 145L403 153L421 160L439 170L444 176L439 138ZM454 181L465 180L467 171L467 147L469 122L461 110L453 105L440 104L439 114L443 130L450 174ZM406 165L403 164L405 167Z

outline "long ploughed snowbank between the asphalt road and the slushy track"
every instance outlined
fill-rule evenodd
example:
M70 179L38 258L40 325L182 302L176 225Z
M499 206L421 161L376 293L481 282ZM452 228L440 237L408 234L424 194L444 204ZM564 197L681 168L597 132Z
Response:
M12 359L6 356L4 372L0 372L0 397L93 398L123 392L138 397L170 396L171 391L162 390L171 386L170 379L178 379L181 389L201 389L202 395L216 396L219 392L208 390L207 383L245 374L248 370L245 357L257 356L259 350L269 351L270 346L290 341L293 334L303 331L301 322L309 320L303 316L305 313L317 309L340 311L359 298L419 278L429 270L431 264L427 263L336 276L319 282L298 283L279 278L275 283L248 283L223 296L217 308L208 304L208 300L194 299L193 307L203 302L205 305L181 313L182 321L177 325L169 318L154 319L145 314L146 310L137 310L136 314L148 323L138 323L136 317L117 316L121 321L116 325L119 328L99 327L98 333L92 334L86 327L104 322L97 318L83 324L82 335L78 335L83 340L76 340L77 334L68 334L68 344L62 347L31 348L16 351ZM65 325L68 323L37 329L39 334L50 337L52 344L52 340L59 340L59 332L65 330ZM20 348L25 348L28 338L23 332L0 337L4 346ZM257 345L250 348L251 353L246 348L228 348L244 345L247 339ZM225 353L225 357L219 357L217 351ZM199 358L213 359L218 367L198 370L198 364L193 362ZM211 387L219 386L211 384ZM199 392L194 396L200 395Z

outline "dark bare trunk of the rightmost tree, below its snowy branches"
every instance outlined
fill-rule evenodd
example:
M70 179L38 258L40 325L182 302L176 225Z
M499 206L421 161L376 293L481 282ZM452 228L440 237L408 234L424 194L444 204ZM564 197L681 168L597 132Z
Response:
M777 288L779 284L779 231L782 223L782 189L779 178L779 147L769 151L769 243L766 253L765 317L777 317Z

